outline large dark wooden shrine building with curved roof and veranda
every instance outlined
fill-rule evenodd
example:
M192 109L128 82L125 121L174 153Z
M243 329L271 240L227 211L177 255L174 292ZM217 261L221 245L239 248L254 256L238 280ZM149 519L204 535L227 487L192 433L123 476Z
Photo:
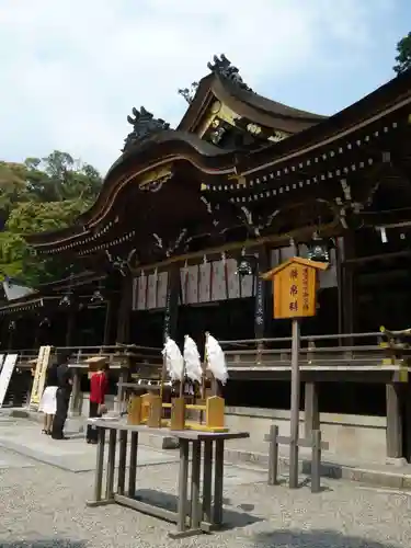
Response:
M290 322L273 319L261 274L327 255L301 321L301 433L320 423L332 453L410 461L407 342L387 355L379 332L411 324L410 71L327 117L259 95L225 57L208 68L175 129L134 109L95 204L27 238L68 272L3 299L1 352L19 353L5 403L24 404L41 345L72 350L71 411L87 415L87 356L114 356L114 401L118 379L158 380L164 333L203 353L209 331L230 375L226 423L264 450L273 421L289 430Z

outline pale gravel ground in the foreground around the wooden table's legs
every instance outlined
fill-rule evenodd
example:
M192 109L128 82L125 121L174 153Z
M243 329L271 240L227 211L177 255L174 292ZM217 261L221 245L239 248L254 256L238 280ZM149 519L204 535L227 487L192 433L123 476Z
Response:
M1 449L0 449L1 450ZM1 450L7 460L13 456ZM0 547L409 548L411 495L326 482L311 494L263 482L225 489L226 530L171 540L174 526L118 505L89 509L93 476L30 461L0 469ZM244 473L238 468L239 477ZM176 465L141 468L139 488L174 492Z

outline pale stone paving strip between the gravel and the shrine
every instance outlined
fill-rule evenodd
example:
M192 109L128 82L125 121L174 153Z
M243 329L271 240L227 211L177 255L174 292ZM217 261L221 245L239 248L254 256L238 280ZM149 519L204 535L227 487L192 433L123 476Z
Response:
M11 416L10 413L15 411L25 418ZM27 420L27 412L24 410L0 410L0 446L70 471L79 472L93 469L93 447L85 445L83 434L79 433L83 430L83 419L76 418L67 421L69 435L72 436L69 444L52 441L44 435L41 436L39 420L38 413L30 413L30 420ZM170 463L178 458L174 450L165 453L160 450L162 438L159 436L141 434L140 444L141 464ZM226 460L235 465L267 470L267 445L252 446L249 450L244 450L237 448L233 442L228 442L226 444ZM263 448L266 449L265 453L262 452ZM288 450L284 446L279 448L278 460L281 471L286 473L288 471ZM309 475L309 449L300 452L299 468L301 475ZM383 488L411 489L411 465L400 466L399 463L387 465L358 463L324 453L321 473L323 477L357 481Z

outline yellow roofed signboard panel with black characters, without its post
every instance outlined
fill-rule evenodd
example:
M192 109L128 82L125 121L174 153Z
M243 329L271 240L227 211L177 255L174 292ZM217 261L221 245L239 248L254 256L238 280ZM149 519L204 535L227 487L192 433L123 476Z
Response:
M262 274L273 281L275 319L316 316L317 271L328 269L328 263L295 256L276 269Z

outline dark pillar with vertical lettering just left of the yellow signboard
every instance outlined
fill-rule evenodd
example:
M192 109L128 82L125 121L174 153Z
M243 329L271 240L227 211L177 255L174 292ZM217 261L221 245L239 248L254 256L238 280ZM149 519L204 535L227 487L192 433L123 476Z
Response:
M254 308L254 336L264 339L266 333L266 322L269 316L270 284L261 278L263 272L270 270L270 254L265 247L259 249L258 267L255 269L255 308ZM264 347L264 343L259 343L259 347Z

